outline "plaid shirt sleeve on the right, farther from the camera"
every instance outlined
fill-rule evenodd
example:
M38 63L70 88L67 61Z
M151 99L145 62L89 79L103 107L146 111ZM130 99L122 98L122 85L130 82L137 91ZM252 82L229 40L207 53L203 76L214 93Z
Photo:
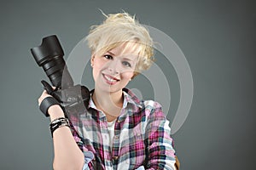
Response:
M161 106L154 102L154 107L148 110L147 117L145 142L148 154L145 168L175 170L171 128Z

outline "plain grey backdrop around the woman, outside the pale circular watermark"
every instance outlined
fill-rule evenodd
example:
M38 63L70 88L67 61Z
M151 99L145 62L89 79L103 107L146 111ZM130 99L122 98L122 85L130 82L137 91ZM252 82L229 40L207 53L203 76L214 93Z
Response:
M37 101L46 77L29 49L57 34L69 54L89 26L103 20L98 8L106 14L122 9L137 14L141 23L172 37L188 59L194 99L186 122L173 135L182 169L254 169L253 0L1 1L0 169L52 168L49 120ZM163 62L161 57L157 62ZM178 98L175 74L171 84ZM177 103L174 99L173 111ZM172 119L172 113L168 116Z

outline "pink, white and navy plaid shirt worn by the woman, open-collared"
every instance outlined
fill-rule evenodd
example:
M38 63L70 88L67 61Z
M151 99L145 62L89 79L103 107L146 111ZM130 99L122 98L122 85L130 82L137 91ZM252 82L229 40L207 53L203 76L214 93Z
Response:
M84 152L84 169L172 169L171 129L160 104L139 101L124 88L124 104L110 147L107 118L90 98L88 110L69 114L72 133Z

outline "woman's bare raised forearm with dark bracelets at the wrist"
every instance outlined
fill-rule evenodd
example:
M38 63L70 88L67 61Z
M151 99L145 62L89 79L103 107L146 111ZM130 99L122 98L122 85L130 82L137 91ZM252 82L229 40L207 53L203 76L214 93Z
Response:
M59 105L49 107L48 112L51 121L64 117L64 113ZM53 144L55 153L53 167L55 170L82 169L84 166L84 154L73 139L69 127L59 127L55 130L53 133Z

